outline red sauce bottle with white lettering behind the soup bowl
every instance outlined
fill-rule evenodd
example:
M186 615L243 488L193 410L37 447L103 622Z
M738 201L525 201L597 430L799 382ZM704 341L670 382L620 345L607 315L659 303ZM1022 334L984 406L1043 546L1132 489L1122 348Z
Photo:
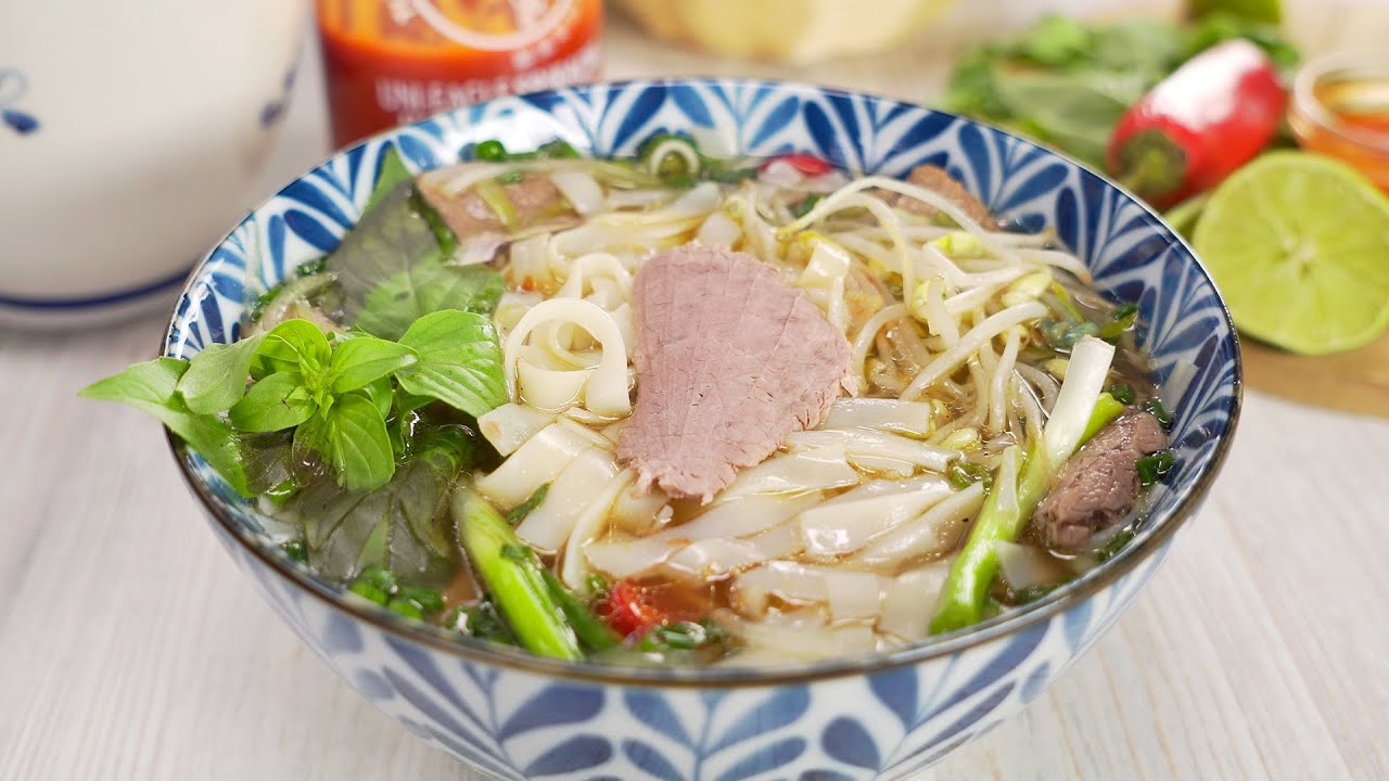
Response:
M317 0L333 145L599 78L601 0Z

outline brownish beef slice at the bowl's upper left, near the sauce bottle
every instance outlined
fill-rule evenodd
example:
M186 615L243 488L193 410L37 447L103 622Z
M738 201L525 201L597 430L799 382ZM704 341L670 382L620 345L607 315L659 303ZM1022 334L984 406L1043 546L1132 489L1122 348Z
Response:
M464 163L463 165L468 165ZM515 218L503 224L494 208L478 195L475 188L450 195L447 182L458 176L458 167L435 168L419 175L417 185L425 200L443 217L444 224L460 239L481 235L508 235L557 217L572 217L574 213L560 195L554 182L543 174L526 174L519 182L500 185L511 202Z

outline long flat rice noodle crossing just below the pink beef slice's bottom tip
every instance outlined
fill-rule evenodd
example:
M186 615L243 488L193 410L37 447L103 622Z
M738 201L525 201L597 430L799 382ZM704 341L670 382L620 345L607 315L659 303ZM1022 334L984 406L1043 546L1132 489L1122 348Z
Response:
M740 496L715 502L699 517L653 535L604 539L588 545L589 563L613 577L626 578L661 564L681 548L711 538L739 538L764 532L820 503L820 493L801 496Z

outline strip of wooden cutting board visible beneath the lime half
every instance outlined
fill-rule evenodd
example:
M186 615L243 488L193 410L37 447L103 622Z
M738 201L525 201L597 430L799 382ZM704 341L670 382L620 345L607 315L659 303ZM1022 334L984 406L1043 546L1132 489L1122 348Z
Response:
M1389 418L1389 332L1358 350L1296 356L1240 339L1245 384L1293 402Z

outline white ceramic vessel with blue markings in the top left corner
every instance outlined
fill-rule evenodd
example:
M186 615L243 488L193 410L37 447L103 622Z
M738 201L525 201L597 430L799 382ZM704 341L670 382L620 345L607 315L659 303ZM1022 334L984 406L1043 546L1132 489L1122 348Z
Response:
M7 3L0 325L167 310L265 188L307 18L294 0Z

